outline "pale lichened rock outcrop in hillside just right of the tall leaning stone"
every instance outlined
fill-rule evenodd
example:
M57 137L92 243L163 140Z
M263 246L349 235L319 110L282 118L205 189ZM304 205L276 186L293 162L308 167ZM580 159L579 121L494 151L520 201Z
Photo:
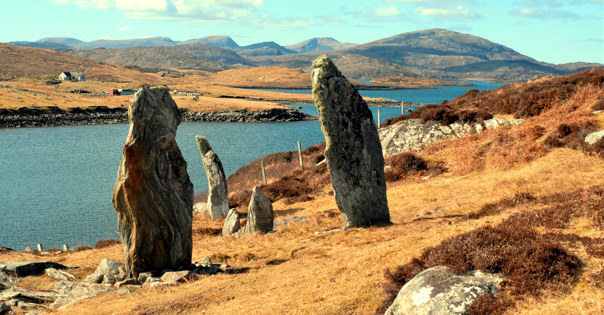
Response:
M388 157L402 152L422 151L429 144L446 139L480 135L484 130L516 126L524 120L493 117L483 124L453 123L445 126L435 121L423 123L422 119L406 119L379 129L379 139L382 152Z

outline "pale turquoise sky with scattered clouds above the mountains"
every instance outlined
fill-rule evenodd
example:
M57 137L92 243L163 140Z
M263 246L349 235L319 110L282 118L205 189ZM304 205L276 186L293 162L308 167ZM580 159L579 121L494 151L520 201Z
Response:
M604 63L603 0L0 0L0 42L43 37L173 40L230 36L239 45L312 37L367 43L445 28L548 63ZM7 14L8 13L8 14Z

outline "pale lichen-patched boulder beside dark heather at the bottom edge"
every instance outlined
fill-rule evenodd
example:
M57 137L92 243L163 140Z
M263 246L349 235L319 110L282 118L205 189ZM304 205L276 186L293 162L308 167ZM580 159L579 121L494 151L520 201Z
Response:
M473 272L459 276L446 267L420 272L400 289L385 315L462 315L481 294L495 295L503 281L498 275Z

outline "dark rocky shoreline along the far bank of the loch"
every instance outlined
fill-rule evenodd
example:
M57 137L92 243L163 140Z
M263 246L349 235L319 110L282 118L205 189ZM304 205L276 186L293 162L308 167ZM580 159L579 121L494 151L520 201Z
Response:
M212 112L196 113L183 112L184 121L304 121L316 120L317 117L308 115L298 109L271 109L259 113L252 112ZM97 125L97 124L123 124L128 122L125 109L118 112L80 112L80 113L40 113L13 115L8 113L0 115L0 128L19 127L53 127L66 125Z

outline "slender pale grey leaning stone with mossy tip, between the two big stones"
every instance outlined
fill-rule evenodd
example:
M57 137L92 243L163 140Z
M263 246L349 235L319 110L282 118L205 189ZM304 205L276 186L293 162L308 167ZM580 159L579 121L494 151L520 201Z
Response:
M208 212L212 220L224 218L228 212L228 194L226 192L225 171L210 142L204 136L196 136L197 146L204 161L205 174L208 176Z

